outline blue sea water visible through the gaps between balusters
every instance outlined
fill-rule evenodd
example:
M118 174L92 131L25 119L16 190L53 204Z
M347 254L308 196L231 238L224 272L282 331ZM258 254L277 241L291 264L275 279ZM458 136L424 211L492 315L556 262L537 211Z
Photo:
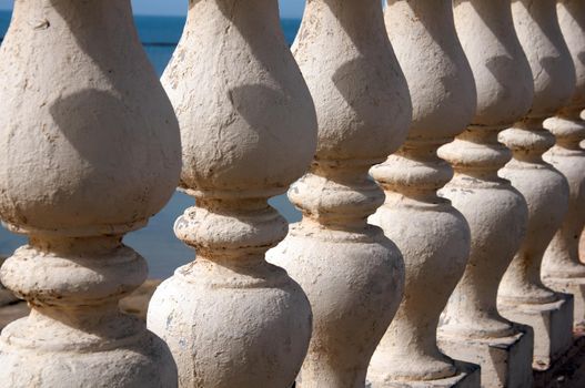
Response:
M10 17L9 11L0 11L0 37L6 33ZM181 17L135 16L140 40L159 76L171 59L184 22L185 19ZM301 20L282 19L281 22L286 41L292 44ZM169 277L174 268L194 259L194 251L176 239L173 233L174 219L193 203L193 198L176 192L167 206L150 219L147 227L132 232L124 238L127 245L147 258L151 277ZM301 219L301 214L291 205L285 195L271 198L270 203L289 222ZM24 236L0 228L0 255L11 255L16 248L26 243Z

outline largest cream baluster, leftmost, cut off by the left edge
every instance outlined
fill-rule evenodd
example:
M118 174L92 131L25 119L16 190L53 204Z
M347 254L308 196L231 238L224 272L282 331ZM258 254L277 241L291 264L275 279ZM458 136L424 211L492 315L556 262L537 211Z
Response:
M16 1L0 51L0 215L27 234L2 283L32 308L0 337L0 387L174 387L118 302L147 278L121 243L169 200L179 126L130 1Z

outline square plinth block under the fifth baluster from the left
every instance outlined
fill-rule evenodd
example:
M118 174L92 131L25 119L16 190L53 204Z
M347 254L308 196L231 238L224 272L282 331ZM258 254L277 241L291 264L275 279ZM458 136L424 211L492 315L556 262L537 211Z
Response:
M514 325L514 335L501 338L453 337L438 333L440 349L450 357L481 365L482 387L532 387L534 334Z

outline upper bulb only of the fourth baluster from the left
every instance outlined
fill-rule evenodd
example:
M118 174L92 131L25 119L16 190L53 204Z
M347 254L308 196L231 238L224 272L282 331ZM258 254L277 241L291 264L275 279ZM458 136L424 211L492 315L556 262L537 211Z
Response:
M385 22L413 103L409 140L457 135L475 112L476 91L451 1L390 0Z

